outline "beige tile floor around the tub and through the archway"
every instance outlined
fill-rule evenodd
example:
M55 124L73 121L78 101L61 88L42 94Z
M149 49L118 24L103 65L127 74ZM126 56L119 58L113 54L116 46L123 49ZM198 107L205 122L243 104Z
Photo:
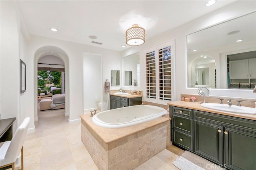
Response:
M63 112L61 114L61 112ZM57 116L49 117L57 114ZM98 170L81 141L80 122L68 121L64 109L38 112L34 133L24 143L25 170ZM178 170L172 162L184 151L168 147L136 170Z

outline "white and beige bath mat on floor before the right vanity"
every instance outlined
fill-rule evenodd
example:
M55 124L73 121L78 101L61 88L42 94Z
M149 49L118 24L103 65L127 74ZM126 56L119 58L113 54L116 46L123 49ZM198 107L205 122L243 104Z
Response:
M175 166L177 164L176 167L179 168L180 170L197 170L197 168L193 169L194 165L196 165L200 168L200 169L198 168L198 170L208 170L208 169L210 169L210 170L224 170L224 168L222 168L221 166L218 166L218 165L210 162L209 160L206 160L206 159L204 159L204 158L202 158L202 157L200 157L196 154L193 154L192 152L189 152L187 150L180 157L182 157L182 161L184 162L184 164L187 165L187 167L182 169L183 166L179 167L178 165L180 163L178 163L178 164L174 163L174 162L176 162L176 160L175 160L173 162L173 164ZM180 162L180 160L178 160L178 162ZM192 165L190 163L192 163Z

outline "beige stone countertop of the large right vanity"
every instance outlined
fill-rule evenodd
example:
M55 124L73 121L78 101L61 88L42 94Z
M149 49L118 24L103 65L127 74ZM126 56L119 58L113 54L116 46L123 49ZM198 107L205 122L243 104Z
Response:
M208 109L208 108L202 107L199 102L175 101L175 102L168 103L168 105L184 107L184 108L188 108L188 109L195 109L195 110L199 110L199 111L206 111L206 112L211 112L211 113L216 113L216 114L221 114L221 115L240 117L240 118L244 118L244 119L256 120L256 114L231 113L231 112L227 112L227 111Z

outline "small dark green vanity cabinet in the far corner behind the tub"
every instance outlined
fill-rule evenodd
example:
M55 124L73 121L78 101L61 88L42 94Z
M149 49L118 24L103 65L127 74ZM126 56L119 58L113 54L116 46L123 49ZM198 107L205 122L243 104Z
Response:
M142 97L125 98L120 96L110 95L110 109L120 107L134 106L142 104Z

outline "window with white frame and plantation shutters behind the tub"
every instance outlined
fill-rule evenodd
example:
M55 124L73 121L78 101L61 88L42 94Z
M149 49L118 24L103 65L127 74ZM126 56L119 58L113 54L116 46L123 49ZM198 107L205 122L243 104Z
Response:
M166 104L172 100L173 41L146 50L146 101Z

